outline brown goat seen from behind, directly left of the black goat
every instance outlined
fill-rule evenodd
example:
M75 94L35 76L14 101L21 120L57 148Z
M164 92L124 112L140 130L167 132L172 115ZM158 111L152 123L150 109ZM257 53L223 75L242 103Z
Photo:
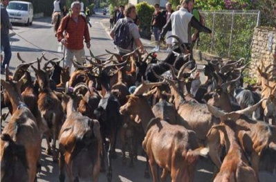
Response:
M84 86L79 84L73 93L68 93L70 97L62 97L66 105L67 118L59 134L59 181L65 179L64 164L69 181L98 181L100 174L100 124L98 120L82 116L77 111L77 102L80 100L77 90L82 87Z

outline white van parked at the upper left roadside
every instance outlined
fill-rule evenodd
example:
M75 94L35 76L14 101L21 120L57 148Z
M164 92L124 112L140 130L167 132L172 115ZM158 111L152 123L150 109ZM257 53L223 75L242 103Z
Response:
M26 26L33 24L33 3L25 1L10 1L7 6L11 23L21 23Z

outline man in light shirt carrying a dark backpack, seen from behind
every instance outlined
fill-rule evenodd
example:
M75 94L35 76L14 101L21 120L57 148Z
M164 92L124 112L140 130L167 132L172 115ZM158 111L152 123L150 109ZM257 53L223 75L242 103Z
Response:
M136 15L135 6L129 3L125 8L125 18L119 19L111 30L110 36L114 39L114 44L120 55L134 51L137 47L140 47L142 54L145 53L145 48L140 41L138 27L134 24Z

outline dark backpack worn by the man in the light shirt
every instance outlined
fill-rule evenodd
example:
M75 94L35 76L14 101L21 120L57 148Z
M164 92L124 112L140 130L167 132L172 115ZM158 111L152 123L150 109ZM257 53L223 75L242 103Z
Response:
M129 32L129 24L132 24L132 22L122 21L122 23L118 25L114 32L114 44L120 48L127 49L133 42Z

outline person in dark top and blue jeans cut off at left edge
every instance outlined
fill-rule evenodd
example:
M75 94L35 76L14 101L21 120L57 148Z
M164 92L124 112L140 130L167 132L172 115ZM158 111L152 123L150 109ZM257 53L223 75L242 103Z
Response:
M10 58L12 57L12 51L10 49L9 30L12 30L12 24L8 17L6 7L9 0L1 0L1 50L3 48L4 59L1 64L1 74L5 73L5 65L9 66Z

